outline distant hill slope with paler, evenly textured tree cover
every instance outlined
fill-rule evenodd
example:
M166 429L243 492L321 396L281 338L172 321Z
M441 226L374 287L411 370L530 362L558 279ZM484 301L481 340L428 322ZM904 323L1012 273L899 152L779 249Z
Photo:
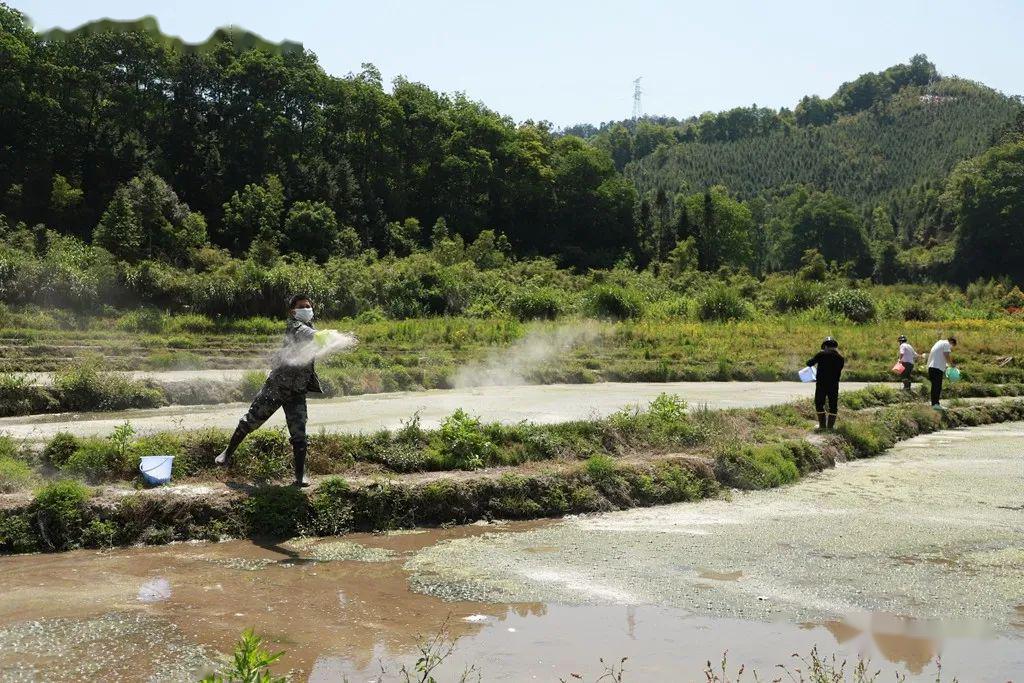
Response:
M909 241L926 228L903 210L911 187L941 182L956 162L991 144L1019 111L1018 102L984 86L942 79L905 87L828 125L664 145L626 172L641 191L693 193L721 184L752 199L792 183L828 188L865 215L892 204L901 237Z

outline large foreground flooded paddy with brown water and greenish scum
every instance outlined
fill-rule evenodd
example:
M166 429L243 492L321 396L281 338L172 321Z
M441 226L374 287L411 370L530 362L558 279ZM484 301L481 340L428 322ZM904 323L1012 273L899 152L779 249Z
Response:
M594 680L627 656L627 681L695 681L726 649L771 680L817 645L910 680L941 655L946 681L1024 681L1022 436L562 521L2 558L0 680L189 680L249 626L298 680L394 680L446 624L438 680Z

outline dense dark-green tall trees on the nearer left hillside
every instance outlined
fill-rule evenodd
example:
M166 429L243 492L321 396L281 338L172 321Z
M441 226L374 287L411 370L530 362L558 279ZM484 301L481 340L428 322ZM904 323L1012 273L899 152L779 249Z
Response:
M629 247L633 186L579 138L403 79L387 92L370 65L335 78L308 51L243 49L227 32L182 51L152 29L47 40L0 5L0 213L88 238L147 172L234 253L290 251L312 219L328 244L347 227L381 251L426 244L440 218L581 265Z

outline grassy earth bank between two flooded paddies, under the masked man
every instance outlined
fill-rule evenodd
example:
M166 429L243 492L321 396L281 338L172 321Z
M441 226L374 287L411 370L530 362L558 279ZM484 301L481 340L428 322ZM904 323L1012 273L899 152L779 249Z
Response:
M834 433L813 439L807 438L812 409L806 401L683 414L670 396L648 411L593 422L480 425L456 414L434 431L409 425L369 436L319 435L313 471L333 476L308 493L272 483L288 463L283 436L272 431L254 435L236 464L234 474L265 483L236 485L226 495L200 485L210 481L206 468L222 434L132 439L122 432L105 444L90 440L84 450L65 438L62 452L51 442L43 455L51 466L67 457L65 471L88 464L93 473L113 472L114 478L123 471L102 469L111 454L114 463L134 463L146 444L184 439L188 450L179 467L198 487L95 495L79 481L61 480L33 498L8 496L0 513L0 549L333 535L658 505L707 498L723 487L791 483L837 460L876 456L941 428L1024 420L1022 400L954 405L941 415L893 391L865 390L845 400L860 410L845 411ZM95 456L104 449L106 455Z

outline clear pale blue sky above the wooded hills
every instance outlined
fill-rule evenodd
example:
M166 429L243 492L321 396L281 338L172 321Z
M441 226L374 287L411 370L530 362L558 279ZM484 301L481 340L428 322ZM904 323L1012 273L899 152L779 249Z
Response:
M153 14L204 40L234 24L303 43L331 74L364 61L558 126L647 114L794 106L924 52L946 75L1024 93L1021 0L7 0L37 29Z

